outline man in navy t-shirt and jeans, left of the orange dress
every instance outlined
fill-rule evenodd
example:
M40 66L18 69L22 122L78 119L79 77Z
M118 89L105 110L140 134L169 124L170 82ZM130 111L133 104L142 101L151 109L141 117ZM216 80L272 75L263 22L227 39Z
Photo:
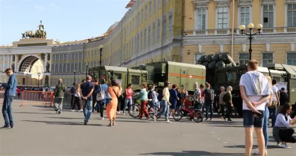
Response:
M92 115L92 92L94 90L92 77L88 75L87 81L81 84L80 88L80 94L83 100L84 124L87 125Z

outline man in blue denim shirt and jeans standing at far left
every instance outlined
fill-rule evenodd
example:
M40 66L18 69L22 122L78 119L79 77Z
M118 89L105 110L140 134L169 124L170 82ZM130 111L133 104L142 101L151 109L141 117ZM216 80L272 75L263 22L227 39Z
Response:
M5 74L9 77L7 83L2 83L2 87L5 89L4 100L2 105L2 114L5 120L5 125L2 128L14 128L14 122L12 117L12 100L16 96L17 90L17 78L13 74L12 69L7 68Z

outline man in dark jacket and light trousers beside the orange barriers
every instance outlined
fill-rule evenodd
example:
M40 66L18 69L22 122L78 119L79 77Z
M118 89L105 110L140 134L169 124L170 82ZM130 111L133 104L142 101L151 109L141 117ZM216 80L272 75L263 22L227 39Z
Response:
M60 78L58 79L58 84L56 85L55 100L54 100L55 111L58 114L62 113L64 92L65 92L65 86L62 84L62 79Z

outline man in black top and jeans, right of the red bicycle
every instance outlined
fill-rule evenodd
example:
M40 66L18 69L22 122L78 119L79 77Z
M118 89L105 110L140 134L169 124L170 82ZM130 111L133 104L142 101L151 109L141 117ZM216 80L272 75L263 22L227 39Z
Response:
M206 89L204 90L204 102L205 102L205 120L208 119L208 112L210 111L210 121L213 118L213 102L214 102L214 90L210 87L209 83L205 84Z

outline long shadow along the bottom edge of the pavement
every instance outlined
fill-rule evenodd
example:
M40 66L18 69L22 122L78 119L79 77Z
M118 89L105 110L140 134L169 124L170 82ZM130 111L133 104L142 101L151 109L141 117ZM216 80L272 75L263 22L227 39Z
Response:
M139 155L157 155L157 156L244 156L243 153L212 153L206 151L183 151L183 152L156 152Z

